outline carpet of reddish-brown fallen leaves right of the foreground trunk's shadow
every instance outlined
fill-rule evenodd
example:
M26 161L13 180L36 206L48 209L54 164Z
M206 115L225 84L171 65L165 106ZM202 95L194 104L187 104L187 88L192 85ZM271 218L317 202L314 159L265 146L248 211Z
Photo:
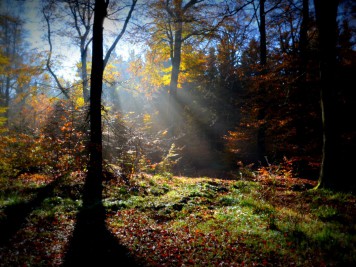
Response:
M237 245L227 230L217 236L196 228L195 217L176 228L169 221L154 221L149 212L129 209L108 217L107 223L120 241L150 266L200 265L204 260L210 266L237 266L236 256L244 246Z

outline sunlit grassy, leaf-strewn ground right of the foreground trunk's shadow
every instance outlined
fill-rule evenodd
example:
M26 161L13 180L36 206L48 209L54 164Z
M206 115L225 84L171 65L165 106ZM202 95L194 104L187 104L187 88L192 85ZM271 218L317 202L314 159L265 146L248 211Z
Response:
M356 262L355 220L340 219L350 219L355 212L355 197L339 194L330 209L322 202L331 201L333 194L307 190L314 181L142 176L133 183L134 194L124 186L110 185L107 224L147 266ZM345 205L353 206L346 211Z

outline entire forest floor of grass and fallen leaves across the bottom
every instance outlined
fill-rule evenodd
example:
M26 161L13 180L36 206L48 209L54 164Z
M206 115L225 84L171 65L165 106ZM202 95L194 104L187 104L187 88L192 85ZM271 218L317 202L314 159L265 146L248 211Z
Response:
M0 266L71 266L75 244L77 261L93 259L85 266L356 266L356 197L311 190L315 181L111 179L100 231L79 223L93 208L82 207L83 183L80 172L1 178Z

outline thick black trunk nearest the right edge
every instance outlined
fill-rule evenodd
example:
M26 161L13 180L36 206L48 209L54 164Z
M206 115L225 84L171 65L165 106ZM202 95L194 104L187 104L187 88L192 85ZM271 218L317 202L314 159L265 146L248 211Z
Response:
M328 5L322 0L314 0L319 30L320 92L323 124L323 151L319 176L319 187L339 187L338 181L338 117L336 90L336 42L337 7L339 1L332 0ZM340 177L341 178L341 177Z

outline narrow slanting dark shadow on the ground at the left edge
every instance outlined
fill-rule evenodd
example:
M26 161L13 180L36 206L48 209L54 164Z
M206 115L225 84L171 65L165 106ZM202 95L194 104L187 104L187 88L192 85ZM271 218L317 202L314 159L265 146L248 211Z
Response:
M0 246L5 246L21 226L28 215L41 205L44 199L53 194L54 189L63 181L64 176L56 178L48 185L36 189L36 196L28 202L20 202L4 209L6 219L0 222Z

